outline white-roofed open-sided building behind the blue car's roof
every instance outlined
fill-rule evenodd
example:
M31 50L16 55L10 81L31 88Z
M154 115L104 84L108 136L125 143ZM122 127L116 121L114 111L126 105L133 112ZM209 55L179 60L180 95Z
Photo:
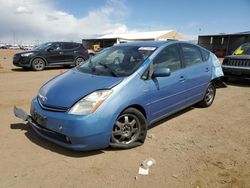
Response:
M183 36L174 30L115 33L99 36L92 39L82 39L83 46L87 49L98 51L98 48L107 48L114 44L132 41L164 41L181 40Z

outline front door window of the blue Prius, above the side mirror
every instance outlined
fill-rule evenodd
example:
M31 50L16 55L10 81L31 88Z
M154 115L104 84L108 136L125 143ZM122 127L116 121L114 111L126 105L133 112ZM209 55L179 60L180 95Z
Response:
M153 60L153 67L166 67L172 72L181 68L181 59L177 46L168 46Z

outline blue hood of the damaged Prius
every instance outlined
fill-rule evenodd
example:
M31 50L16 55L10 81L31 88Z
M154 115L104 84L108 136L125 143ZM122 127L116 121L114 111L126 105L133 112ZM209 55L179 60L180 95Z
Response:
M50 108L68 109L84 96L111 89L123 78L97 76L71 69L45 83L39 90L39 102Z

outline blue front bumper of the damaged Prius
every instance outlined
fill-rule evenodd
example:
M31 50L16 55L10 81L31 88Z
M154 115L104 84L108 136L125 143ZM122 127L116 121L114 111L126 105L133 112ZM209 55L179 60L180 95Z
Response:
M113 124L97 116L43 110L37 99L33 99L27 121L46 140L72 150L86 151L109 146Z

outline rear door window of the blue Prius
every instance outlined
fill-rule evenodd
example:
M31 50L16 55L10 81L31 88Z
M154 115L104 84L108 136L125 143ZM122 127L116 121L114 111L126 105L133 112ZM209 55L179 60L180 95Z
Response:
M186 67L203 62L199 48L192 45L182 45L182 51Z

